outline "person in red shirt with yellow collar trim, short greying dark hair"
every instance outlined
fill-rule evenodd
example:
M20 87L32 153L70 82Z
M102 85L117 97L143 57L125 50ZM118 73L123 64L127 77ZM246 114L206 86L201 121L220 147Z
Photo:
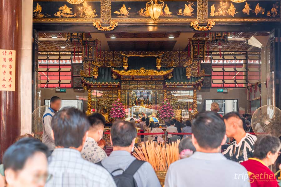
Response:
M279 138L271 135L260 135L254 145L254 157L241 163L249 175L251 186L278 187L276 176L269 169L280 155Z

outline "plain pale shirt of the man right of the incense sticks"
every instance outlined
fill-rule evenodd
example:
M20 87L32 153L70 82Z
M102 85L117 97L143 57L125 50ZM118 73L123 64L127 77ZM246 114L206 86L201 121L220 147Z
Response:
M250 187L247 170L221 153L196 151L189 158L172 163L165 187Z

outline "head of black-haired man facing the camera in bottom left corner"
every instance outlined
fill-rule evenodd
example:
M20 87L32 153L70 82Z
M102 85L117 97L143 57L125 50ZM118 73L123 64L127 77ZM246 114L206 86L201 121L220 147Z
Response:
M35 138L23 138L3 156L7 187L44 187L48 177L46 145Z

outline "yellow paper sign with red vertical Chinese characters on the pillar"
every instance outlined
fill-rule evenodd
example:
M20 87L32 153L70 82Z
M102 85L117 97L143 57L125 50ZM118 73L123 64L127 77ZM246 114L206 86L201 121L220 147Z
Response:
M16 90L16 51L0 49L0 90Z

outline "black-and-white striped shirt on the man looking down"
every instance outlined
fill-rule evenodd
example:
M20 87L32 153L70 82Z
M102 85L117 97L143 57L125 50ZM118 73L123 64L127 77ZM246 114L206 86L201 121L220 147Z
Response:
M223 152L223 155L235 162L244 162L254 155L254 144L257 141L257 137L246 133L245 137L237 144L236 140L233 141L227 149Z

